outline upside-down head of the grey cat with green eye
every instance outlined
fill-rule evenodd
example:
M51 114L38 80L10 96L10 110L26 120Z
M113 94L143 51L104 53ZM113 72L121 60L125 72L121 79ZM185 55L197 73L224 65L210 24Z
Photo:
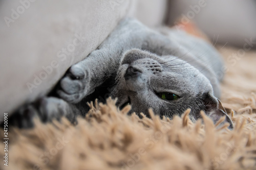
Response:
M190 118L201 117L205 111L214 122L227 114L219 109L218 99L213 95L209 80L198 69L174 56L157 56L133 49L123 55L116 77L117 86L112 96L117 105L132 106L132 112L155 114L172 118L191 109ZM232 121L227 116L226 122Z

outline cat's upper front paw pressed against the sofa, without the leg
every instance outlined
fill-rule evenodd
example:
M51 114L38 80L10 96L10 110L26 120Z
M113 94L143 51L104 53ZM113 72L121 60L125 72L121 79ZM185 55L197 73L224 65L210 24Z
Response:
M70 103L80 102L90 92L90 70L82 63L72 65L60 80L58 95Z

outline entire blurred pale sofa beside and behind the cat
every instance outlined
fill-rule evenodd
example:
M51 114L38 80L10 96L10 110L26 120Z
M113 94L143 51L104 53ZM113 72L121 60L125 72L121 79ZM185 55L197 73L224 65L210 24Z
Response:
M149 27L193 22L213 44L256 46L255 0L3 0L0 115L46 95L126 16Z

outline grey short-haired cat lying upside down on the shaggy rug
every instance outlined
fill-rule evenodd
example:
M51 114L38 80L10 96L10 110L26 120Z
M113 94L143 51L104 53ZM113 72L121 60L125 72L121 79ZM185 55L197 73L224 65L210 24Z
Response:
M69 68L55 89L60 98L41 98L20 108L10 121L26 128L33 126L34 116L42 122L66 116L76 123L89 110L88 101L109 94L120 108L130 104L130 113L150 117L152 108L160 117L172 118L190 108L195 122L203 110L214 123L226 116L232 129L218 100L222 77L216 73L222 66L220 54L202 39L124 18L97 50Z

